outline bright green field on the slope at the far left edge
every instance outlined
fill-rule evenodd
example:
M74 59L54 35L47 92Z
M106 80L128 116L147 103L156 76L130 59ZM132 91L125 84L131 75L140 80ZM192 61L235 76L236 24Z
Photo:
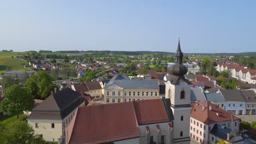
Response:
M20 52L20 55L19 52L0 52L0 74L6 71L8 65L11 70L25 71L26 69L22 64L26 64L27 61L16 58L16 56L22 55L22 52ZM14 58L11 58L11 56Z

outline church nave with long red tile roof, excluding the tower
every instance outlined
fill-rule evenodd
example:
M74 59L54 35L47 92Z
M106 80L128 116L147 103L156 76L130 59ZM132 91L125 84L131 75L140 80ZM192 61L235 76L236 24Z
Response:
M171 143L172 121L170 99L79 107L66 143Z

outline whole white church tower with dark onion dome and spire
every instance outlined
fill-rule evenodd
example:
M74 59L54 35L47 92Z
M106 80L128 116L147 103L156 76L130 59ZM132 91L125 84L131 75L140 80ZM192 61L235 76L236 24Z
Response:
M166 82L165 98L171 99L171 109L174 116L173 121L173 144L190 143L190 87L192 84L185 79L188 68L183 65L183 53L181 44L174 53L175 63L170 67L171 79Z

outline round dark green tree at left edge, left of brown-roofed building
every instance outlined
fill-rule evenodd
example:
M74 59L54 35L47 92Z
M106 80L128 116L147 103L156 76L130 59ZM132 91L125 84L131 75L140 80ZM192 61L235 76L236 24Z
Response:
M19 85L13 85L4 92L4 99L1 102L0 108L11 115L19 115L24 111L31 111L34 105L34 98L27 89Z

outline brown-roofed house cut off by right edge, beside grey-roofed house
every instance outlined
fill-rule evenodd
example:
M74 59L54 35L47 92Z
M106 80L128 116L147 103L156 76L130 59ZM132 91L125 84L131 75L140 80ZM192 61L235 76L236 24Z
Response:
M252 112L252 115L256 115L256 94L253 89L241 90L243 98L246 100L246 115Z

